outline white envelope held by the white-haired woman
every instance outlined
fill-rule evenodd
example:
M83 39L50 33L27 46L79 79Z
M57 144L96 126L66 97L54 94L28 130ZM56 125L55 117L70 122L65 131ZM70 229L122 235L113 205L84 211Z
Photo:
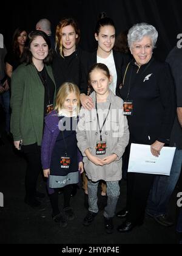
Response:
M128 172L170 176L176 148L164 147L159 157L154 157L149 145L131 145Z

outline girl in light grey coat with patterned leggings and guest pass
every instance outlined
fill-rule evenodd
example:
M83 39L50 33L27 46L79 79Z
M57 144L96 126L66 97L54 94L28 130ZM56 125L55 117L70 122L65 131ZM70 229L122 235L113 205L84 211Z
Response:
M129 143L129 128L123 115L123 100L109 90L112 81L109 69L102 63L92 66L89 83L93 87L92 111L81 108L77 129L78 148L84 156L84 168L89 179L89 212L83 225L89 226L98 213L97 189L99 180L107 183L107 207L104 223L112 233L112 218L120 196L122 156Z

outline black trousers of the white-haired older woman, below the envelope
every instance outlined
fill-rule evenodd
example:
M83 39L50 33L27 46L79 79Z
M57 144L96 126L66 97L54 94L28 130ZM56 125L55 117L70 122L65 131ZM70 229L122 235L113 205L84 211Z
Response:
M134 224L143 222L147 199L153 184L155 175L128 173L127 182L127 221Z

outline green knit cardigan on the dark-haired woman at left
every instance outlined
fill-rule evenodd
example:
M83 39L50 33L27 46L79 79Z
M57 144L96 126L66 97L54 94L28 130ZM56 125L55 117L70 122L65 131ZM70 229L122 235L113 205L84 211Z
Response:
M51 66L45 65L55 84ZM33 64L20 65L12 75L11 132L14 141L24 145L37 143L41 146L44 126L44 85ZM54 105L56 97L56 85Z

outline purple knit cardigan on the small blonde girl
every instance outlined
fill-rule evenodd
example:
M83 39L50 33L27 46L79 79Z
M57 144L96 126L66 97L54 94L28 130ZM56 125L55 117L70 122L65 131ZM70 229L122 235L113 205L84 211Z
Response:
M59 117L58 113L53 110L45 117L44 135L41 146L41 161L43 169L50 169L52 151L56 143L56 138L59 135ZM78 149L78 163L83 161L83 157Z

